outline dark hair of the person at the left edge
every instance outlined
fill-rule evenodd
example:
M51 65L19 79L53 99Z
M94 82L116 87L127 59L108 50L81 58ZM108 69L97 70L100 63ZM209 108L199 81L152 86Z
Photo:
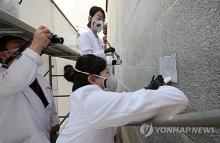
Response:
M15 39L24 40L21 37L12 36L12 35L7 35L7 36L0 37L0 51L6 51L7 50L6 46L7 46L8 42L10 42L11 40L15 40Z

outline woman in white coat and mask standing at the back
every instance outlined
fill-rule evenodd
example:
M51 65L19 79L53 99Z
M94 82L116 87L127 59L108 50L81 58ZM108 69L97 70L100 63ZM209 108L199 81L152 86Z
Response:
M89 11L88 30L80 34L80 53L94 54L106 60L106 53L115 52L114 48L104 48L103 41L98 37L98 33L102 31L105 12L101 7L93 6ZM110 61L109 61L110 62Z

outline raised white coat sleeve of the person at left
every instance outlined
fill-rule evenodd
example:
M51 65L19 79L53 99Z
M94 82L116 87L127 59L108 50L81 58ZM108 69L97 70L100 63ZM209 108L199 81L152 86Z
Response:
M42 63L40 55L27 48L18 60L0 73L0 97L16 95L28 86Z

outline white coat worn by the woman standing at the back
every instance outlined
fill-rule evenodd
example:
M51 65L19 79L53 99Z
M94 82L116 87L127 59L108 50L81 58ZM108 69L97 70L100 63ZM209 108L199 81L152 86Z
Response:
M94 54L106 60L103 41L97 38L90 29L80 34L79 47L81 55Z

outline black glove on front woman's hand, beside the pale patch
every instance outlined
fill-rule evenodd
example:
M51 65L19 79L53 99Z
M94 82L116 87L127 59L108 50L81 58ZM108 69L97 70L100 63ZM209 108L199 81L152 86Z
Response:
M164 84L165 83L162 75L158 75L156 79L154 79L153 76L150 84L147 87L145 87L145 89L157 90L160 86L163 86Z

